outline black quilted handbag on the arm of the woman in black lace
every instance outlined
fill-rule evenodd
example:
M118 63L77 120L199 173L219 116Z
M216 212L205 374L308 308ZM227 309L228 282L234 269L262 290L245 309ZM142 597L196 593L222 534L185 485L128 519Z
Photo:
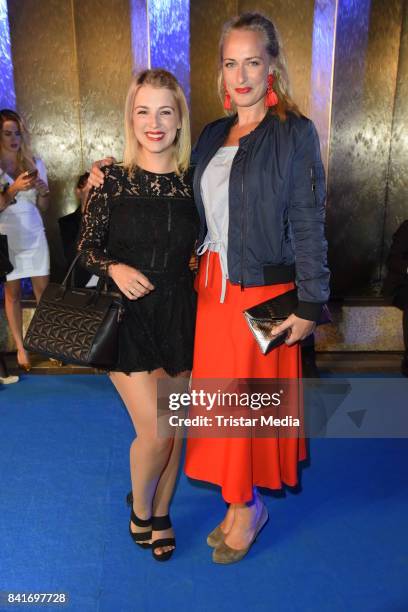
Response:
M108 291L103 278L92 289L74 287L74 268L80 256L75 257L61 285L46 287L24 348L66 363L109 369L118 357L122 296Z

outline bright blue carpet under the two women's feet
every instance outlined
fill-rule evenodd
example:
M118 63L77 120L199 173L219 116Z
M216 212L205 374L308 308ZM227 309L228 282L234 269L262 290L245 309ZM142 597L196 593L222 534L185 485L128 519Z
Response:
M0 591L67 592L78 612L408 610L408 440L312 440L302 492L266 496L231 566L205 544L220 495L182 475L160 564L127 533L132 429L106 377L25 376L0 419Z

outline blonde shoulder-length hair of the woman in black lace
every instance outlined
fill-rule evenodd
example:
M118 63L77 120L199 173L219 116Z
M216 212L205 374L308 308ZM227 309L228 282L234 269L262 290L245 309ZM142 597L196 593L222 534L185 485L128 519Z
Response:
M177 131L174 141L174 161L177 174L186 172L190 164L191 154L190 117L187 101L176 77L171 72L161 68L143 70L132 78L125 103L125 151L123 154L123 165L128 171L137 169L136 159L139 144L133 129L133 108L136 94L143 85L151 85L152 87L157 87L157 89L165 87L174 96L181 122L181 128Z

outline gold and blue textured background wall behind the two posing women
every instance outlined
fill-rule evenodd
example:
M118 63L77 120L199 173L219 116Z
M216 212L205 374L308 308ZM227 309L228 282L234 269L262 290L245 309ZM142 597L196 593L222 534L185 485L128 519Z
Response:
M392 234L408 218L407 0L194 0L189 31L188 19L177 18L177 11L188 14L186 2L8 0L17 108L49 170L54 276L64 266L56 220L75 207L75 178L93 159L121 157L124 98L132 65L141 67L135 49L154 65L145 52L149 28L150 35L152 28L177 34L166 38L177 47L166 46L169 69L190 39L195 139L222 115L215 86L222 24L261 10L285 43L294 98L319 127L333 293L377 295ZM137 11L147 28L138 26ZM152 40L161 40L156 34ZM183 50L182 78L187 56Z

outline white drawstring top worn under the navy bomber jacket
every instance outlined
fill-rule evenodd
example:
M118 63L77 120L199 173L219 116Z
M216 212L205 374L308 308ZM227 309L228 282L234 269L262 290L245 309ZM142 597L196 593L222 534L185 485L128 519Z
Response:
M218 149L201 178L201 197L203 198L208 231L197 253L202 255L208 249L220 255L222 272L221 302L225 298L226 281L228 278L229 177L231 165L237 151L238 146L221 147ZM207 286L208 281L208 261L205 286Z

